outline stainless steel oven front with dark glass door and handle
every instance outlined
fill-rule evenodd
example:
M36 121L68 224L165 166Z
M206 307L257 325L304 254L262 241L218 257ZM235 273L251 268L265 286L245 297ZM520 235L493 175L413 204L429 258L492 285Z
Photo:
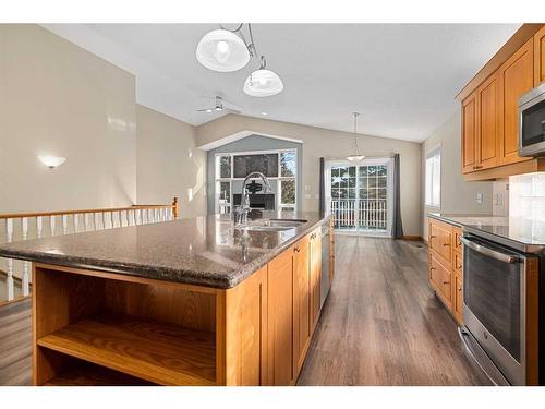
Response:
M524 254L464 236L463 322L511 385L525 383Z

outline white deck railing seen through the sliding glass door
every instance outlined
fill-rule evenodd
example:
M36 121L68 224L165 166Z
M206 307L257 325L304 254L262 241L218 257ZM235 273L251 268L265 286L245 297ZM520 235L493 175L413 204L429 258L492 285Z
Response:
M352 230L386 230L386 200L331 200L335 228Z

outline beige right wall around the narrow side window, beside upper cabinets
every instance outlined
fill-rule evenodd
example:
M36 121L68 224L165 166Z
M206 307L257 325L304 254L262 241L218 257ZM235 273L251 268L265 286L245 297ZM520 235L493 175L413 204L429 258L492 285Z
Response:
M441 147L441 200L440 208L425 206L425 191L422 190L423 231L427 240L428 212L471 215L492 214L492 182L465 182L461 169L461 118L458 111L422 143L422 185L425 184L426 154L436 146ZM476 194L483 194L483 203L476 202Z

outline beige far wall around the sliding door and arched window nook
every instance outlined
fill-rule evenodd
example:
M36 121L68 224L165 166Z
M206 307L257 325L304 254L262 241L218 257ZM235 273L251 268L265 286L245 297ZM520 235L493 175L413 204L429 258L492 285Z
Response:
M295 123L228 115L197 128L197 145L220 140L242 131L284 136L303 141L303 210L318 209L319 157L343 157L352 151L352 134ZM421 207L421 144L375 136L359 136L361 151L368 155L400 154L401 216L404 234L420 236ZM310 194L311 199L305 195Z

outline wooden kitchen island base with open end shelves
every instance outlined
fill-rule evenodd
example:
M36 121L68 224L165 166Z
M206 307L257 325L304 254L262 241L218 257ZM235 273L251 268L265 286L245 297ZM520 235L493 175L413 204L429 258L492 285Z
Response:
M230 289L34 264L33 382L294 385L320 270L319 228Z

